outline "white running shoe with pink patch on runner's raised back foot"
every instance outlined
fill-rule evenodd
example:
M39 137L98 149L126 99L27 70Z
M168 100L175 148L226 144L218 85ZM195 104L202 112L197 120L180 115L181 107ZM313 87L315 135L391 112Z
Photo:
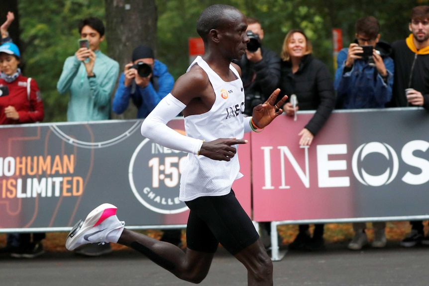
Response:
M78 221L66 239L66 248L74 250L88 243L116 243L122 234L124 222L116 216L117 207L104 203L91 211L85 221Z

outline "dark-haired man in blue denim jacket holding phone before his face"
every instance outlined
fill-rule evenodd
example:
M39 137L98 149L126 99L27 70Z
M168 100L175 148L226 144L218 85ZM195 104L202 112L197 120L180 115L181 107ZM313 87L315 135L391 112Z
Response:
M394 63L389 56L392 48L380 41L380 24L373 16L358 19L356 40L342 49L337 57L334 87L337 108L383 108L392 98ZM372 56L362 55L362 46L372 46ZM372 247L385 247L386 222L373 222ZM355 235L348 248L360 250L368 243L365 222L353 223Z

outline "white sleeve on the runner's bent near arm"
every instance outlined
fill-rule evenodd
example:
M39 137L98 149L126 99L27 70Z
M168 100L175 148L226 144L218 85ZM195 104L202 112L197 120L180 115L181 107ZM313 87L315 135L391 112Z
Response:
M191 138L167 126L186 107L172 94L166 95L141 124L141 135L170 149L198 155L203 140Z

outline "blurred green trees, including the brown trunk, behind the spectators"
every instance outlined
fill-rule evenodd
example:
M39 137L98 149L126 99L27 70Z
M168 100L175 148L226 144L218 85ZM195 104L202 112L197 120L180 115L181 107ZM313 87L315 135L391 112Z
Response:
M25 74L39 84L45 104L45 122L66 121L68 98L58 94L56 83L64 60L77 50L80 19L96 16L104 20L107 39L102 42L101 50L118 61L121 69L133 47L146 44L156 51L156 57L177 79L189 65L188 39L198 37L199 14L217 2L1 0L0 21L4 21L8 10L14 12L15 21L9 32L23 51ZM278 53L287 31L302 28L314 45L316 57L326 63L333 74L332 28L342 29L343 43L348 45L354 38L356 19L372 15L382 26L383 40L404 39L409 35L407 23L411 9L416 5L428 5L429 0L225 0L223 3L258 18L265 32L263 45ZM134 114L130 110L124 117L134 118Z

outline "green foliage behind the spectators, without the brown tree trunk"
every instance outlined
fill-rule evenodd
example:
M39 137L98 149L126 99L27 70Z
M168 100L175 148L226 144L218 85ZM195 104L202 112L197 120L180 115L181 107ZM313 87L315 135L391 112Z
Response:
M196 22L213 0L155 0L158 9L157 58L177 79L189 65L188 39L198 37ZM393 42L409 34L411 9L428 0L225 0L263 26L263 45L280 55L284 37L292 28L303 29L313 43L314 54L333 73L332 28L341 28L343 46L354 39L354 22L373 15L381 24L382 39ZM67 95L59 95L56 83L68 56L77 50L78 21L87 16L105 19L104 0L19 0L21 40L25 46L25 75L33 77L45 101L45 121L66 120ZM144 19L142 19L144 20ZM120 43L116 43L120 44ZM107 43L101 46L107 50Z

